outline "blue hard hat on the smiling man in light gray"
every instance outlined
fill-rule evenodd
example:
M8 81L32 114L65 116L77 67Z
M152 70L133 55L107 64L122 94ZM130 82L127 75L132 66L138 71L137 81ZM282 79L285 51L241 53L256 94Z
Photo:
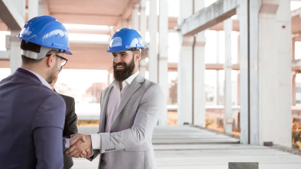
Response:
M122 28L112 36L107 52L120 52L133 48L146 48L141 35L135 29Z

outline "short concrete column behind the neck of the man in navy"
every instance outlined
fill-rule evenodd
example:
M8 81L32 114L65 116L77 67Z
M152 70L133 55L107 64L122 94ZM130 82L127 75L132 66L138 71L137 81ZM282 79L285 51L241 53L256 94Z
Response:
M22 64L22 58L21 58L21 41L16 37L20 31L11 31L11 35L7 35L6 40L8 44L8 50L10 51L10 68L11 68L11 74L14 73L18 67Z

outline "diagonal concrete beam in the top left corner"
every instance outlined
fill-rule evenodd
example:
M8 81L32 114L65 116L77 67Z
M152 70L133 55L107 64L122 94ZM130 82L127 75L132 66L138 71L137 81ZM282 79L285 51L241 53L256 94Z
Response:
M0 18L11 30L20 31L24 24L24 17L11 0L0 0Z

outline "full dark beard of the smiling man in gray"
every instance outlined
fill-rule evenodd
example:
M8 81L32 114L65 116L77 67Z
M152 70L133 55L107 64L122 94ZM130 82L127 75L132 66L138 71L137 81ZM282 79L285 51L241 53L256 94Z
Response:
M124 66L123 70L118 70L117 66ZM113 63L113 75L116 81L122 82L129 78L135 69L134 54L131 62L127 65L126 63Z

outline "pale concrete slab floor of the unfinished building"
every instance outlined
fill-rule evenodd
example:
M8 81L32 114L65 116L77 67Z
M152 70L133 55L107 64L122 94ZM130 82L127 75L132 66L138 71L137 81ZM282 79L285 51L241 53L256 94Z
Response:
M97 131L98 127L79 127L79 133ZM259 162L259 169L301 168L301 156L237 141L189 126L158 126L152 140L158 169L228 169L229 162ZM73 169L96 169L99 158L73 160Z

